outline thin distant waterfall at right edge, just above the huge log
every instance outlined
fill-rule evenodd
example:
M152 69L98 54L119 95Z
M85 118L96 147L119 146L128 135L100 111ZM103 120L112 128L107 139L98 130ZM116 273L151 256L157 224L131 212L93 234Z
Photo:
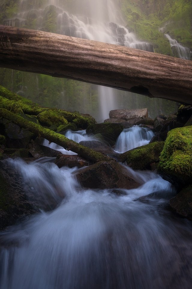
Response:
M169 39L171 49L175 57L179 57L179 58L187 59L187 60L191 59L192 52L190 51L189 48L184 47L181 44L179 44L176 41L176 39L172 39L169 34L165 33L164 35L167 37L167 39Z

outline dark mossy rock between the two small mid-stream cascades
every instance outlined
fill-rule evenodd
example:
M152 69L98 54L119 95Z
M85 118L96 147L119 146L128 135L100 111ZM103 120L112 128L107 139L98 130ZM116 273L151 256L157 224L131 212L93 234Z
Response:
M88 126L86 132L88 134L101 134L105 141L110 145L114 145L118 136L123 130L123 126L120 123L97 123Z

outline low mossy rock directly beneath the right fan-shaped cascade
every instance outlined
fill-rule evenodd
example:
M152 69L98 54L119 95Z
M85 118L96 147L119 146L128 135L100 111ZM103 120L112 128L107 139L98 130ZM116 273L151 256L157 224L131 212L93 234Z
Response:
M163 147L164 141L155 141L120 154L118 159L121 162L126 161L132 169L149 169L151 163L159 162Z

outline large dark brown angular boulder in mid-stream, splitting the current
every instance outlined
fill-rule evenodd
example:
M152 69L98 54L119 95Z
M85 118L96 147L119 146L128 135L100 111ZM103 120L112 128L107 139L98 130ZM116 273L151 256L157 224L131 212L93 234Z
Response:
M114 160L101 161L82 169L77 179L85 188L137 188L136 182L128 170Z

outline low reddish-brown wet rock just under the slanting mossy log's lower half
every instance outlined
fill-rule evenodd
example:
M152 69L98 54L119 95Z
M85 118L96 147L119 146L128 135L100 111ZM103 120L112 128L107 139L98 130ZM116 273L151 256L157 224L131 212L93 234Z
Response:
M81 168L83 166L88 166L90 163L79 155L58 155L55 164L59 168L62 166L68 166L70 168L77 166L78 168Z

